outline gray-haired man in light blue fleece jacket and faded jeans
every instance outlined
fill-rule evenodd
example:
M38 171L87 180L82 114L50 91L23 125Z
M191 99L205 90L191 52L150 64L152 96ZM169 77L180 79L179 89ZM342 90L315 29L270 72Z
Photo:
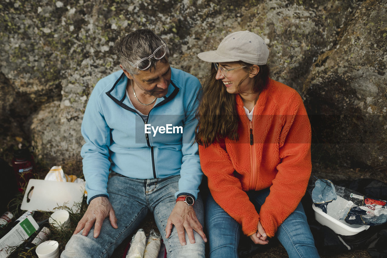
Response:
M61 257L109 257L153 212L168 257L204 257L195 112L200 82L171 68L149 29L116 41L122 70L99 80L82 121L86 213Z

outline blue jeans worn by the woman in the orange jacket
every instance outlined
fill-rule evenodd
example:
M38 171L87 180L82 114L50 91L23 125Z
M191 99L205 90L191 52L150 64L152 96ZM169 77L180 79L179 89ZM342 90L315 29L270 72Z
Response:
M270 190L267 188L261 191L250 191L247 194L259 212L269 193ZM241 226L214 201L211 194L205 205L205 224L209 239L210 258L238 257ZM315 248L301 203L278 227L275 237L284 246L290 258L320 257Z

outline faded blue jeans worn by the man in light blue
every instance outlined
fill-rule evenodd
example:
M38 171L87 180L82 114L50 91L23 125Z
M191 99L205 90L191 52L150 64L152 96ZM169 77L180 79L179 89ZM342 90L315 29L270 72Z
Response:
M204 257L204 241L195 231L195 244L190 243L186 232L187 244L182 246L176 227L173 227L171 236L165 238L166 223L176 203L175 193L178 190L179 179L180 175L142 180L115 174L109 178L108 193L118 219L118 229L113 228L109 218L106 218L97 238L93 237L94 227L87 236L82 236L82 231L80 231L70 238L61 257L110 257L114 249L125 238L135 233L134 231L140 226L148 212L154 214L168 257ZM203 225L203 202L200 196L195 201L194 209L199 222Z

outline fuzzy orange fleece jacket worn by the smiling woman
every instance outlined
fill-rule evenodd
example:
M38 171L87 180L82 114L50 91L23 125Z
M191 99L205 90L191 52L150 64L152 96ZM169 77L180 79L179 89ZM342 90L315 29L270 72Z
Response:
M204 148L200 164L214 200L242 226L247 236L261 222L274 236L279 225L296 209L305 194L312 170L311 128L300 95L270 80L255 104L252 123L236 94L239 140ZM250 125L253 143L250 144ZM270 187L259 214L246 191Z

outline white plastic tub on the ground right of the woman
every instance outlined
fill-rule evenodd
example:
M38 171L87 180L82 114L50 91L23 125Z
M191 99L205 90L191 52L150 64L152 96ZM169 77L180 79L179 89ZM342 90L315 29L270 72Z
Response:
M339 220L336 212L341 208L344 208L348 201L337 196L337 200L329 203L327 206L327 213L325 214L320 208L317 208L314 203L312 204L312 208L315 212L316 220L324 226L332 229L336 234L340 234L343 236L352 236L357 234L363 230L368 229L370 226L368 225L351 225L345 222L344 220ZM335 218L336 217L336 218Z

